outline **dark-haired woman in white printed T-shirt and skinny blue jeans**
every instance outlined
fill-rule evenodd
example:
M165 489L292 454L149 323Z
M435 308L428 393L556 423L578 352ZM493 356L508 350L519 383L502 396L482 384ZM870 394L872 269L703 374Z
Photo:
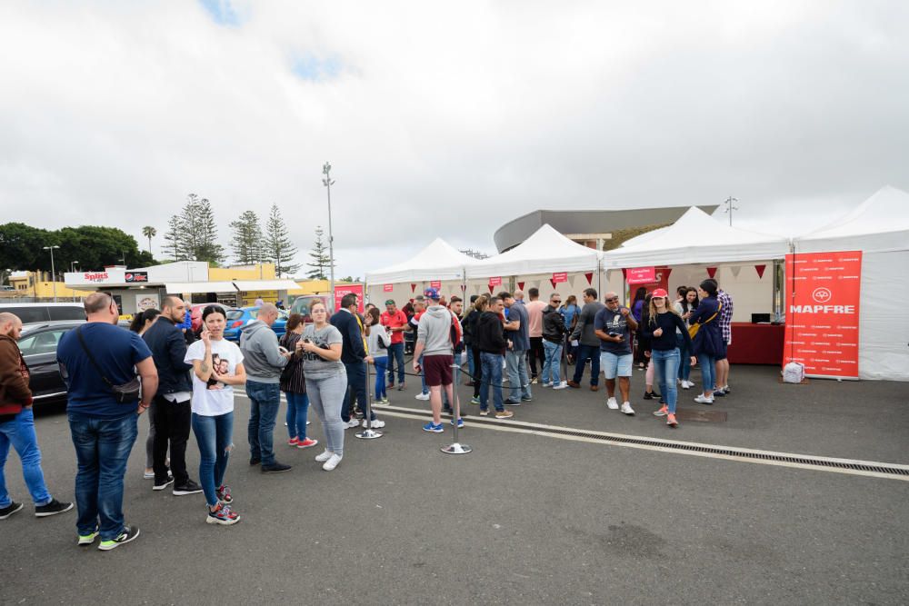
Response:
M225 340L224 309L209 305L202 313L202 338L186 350L193 364L193 432L199 443L199 482L208 504L209 524L235 524L240 516L230 487L224 483L227 460L234 448L234 385L246 382L243 354Z

